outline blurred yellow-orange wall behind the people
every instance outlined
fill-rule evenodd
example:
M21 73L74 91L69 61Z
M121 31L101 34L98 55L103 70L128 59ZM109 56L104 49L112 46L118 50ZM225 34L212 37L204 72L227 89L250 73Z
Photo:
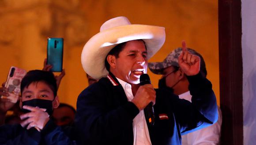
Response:
M64 37L66 76L58 94L60 101L75 107L77 96L88 85L80 62L83 45L106 20L126 16L133 24L166 28L166 43L149 62L162 61L173 49L181 47L182 40L200 52L219 104L217 0L27 1L31 3L17 4L20 7L0 3L0 81L6 80L12 65L41 69L46 58L46 38ZM160 76L148 73L157 87Z

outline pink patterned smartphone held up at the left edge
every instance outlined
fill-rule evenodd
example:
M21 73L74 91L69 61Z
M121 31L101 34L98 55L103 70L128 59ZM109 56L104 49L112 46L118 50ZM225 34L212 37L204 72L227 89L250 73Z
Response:
M26 70L11 66L5 87L8 89L8 99L12 103L16 103L20 94L20 83L26 75Z

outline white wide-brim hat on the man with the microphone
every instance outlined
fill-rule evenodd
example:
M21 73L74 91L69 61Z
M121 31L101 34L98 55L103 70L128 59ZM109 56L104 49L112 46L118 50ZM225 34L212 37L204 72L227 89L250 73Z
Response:
M153 25L131 24L126 17L106 21L100 32L88 40L81 54L84 71L95 79L108 75L105 58L117 44L142 39L147 47L147 58L151 58L166 39L165 28Z

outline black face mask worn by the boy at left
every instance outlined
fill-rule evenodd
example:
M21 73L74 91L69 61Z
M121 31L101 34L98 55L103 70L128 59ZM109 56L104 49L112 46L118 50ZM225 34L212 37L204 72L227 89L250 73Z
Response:
M32 99L32 100L28 100L28 101L23 101L22 102L22 107L24 105L32 106L32 107L37 107L38 106L39 108L46 109L45 112L47 112L49 114L49 116L51 116L53 114L53 104L52 103L53 103L53 101L51 101L51 100ZM30 110L22 108L22 112L28 113L28 112L30 112Z

